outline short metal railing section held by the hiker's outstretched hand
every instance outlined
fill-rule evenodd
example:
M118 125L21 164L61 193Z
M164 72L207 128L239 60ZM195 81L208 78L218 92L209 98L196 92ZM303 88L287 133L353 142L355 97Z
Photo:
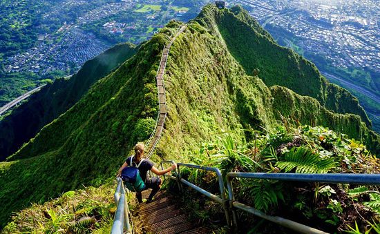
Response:
M168 162L174 163L174 161L172 161L172 160L171 161L162 161L161 162L161 168L163 168L162 163L168 163ZM215 195L213 193L206 191L203 188L200 188L199 186L196 186L195 184L192 184L191 182L188 182L186 179L183 179L181 177L181 171L180 171L180 168L182 166L186 166L188 168L196 168L196 169L200 169L200 170L212 171L212 172L216 173L216 176L218 177L218 182L219 182L220 197L218 195ZM164 175L164 176L169 177L171 179L175 179L175 180L177 180L178 183L182 182L183 184L186 184L190 188L193 188L194 190L198 191L199 193L202 193L206 197L209 197L213 201L218 202L219 204L222 204L223 209L225 210L225 217L226 217L227 224L229 226L231 225L231 221L229 219L229 207L227 204L228 199L226 199L226 195L225 195L225 185L223 182L222 173L220 173L220 170L218 168L209 167L209 166L199 166L199 165L194 165L194 164L177 163L177 177L173 177L172 175Z

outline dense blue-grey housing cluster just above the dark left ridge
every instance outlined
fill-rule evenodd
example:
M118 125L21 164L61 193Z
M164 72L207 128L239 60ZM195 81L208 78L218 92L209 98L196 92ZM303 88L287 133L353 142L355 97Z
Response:
M43 76L54 70L66 71L70 70L70 66L81 66L111 46L75 26L65 30L57 43L52 43L54 37L51 35L41 35L34 48L9 58L6 71L35 72Z

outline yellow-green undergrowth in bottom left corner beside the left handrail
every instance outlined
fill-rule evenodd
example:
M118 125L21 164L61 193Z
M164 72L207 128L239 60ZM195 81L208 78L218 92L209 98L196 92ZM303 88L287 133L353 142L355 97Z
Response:
M116 207L115 184L68 191L15 213L2 233L109 233Z

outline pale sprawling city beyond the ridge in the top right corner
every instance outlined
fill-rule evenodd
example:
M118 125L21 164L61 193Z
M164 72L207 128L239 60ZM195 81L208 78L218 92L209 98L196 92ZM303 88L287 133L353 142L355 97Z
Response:
M276 25L296 37L303 50L325 55L332 66L380 72L379 1L237 0L263 26ZM290 45L289 45L290 46Z

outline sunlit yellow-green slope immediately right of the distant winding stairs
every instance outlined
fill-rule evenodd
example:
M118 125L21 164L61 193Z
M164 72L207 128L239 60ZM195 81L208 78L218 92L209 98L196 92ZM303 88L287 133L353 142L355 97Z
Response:
M220 39L198 23L173 43L165 79L169 117L158 146L165 157L180 156L221 131L273 125L269 106L263 108L268 88L245 75Z

